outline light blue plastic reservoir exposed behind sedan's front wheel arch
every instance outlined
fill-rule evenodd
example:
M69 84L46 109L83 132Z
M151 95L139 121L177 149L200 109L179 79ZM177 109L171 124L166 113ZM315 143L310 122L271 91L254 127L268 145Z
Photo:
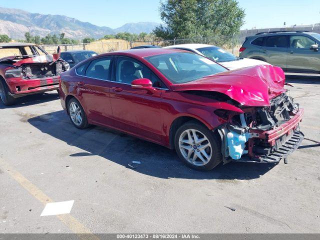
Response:
M232 159L238 160L241 158L242 154L247 153L247 150L244 150L245 142L247 142L250 138L250 134L248 132L239 134L235 131L230 131L226 135L229 156Z

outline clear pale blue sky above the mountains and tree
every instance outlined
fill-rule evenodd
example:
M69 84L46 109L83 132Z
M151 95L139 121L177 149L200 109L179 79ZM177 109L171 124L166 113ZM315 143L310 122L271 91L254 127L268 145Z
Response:
M320 22L318 0L238 0L252 27L278 27ZM0 6L41 14L60 14L99 26L119 27L127 22L161 22L159 0L1 0Z

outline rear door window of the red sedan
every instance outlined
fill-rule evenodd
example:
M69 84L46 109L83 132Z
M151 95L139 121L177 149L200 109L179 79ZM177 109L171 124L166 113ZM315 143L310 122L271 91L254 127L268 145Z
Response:
M101 80L109 80L111 57L94 59L85 71L85 76Z

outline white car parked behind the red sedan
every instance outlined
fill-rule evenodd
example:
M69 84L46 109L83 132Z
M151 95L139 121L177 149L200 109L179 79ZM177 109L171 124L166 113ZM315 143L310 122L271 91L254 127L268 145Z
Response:
M206 56L222 66L228 68L229 70L238 69L247 66L255 66L260 64L268 64L266 62L249 59L249 58L242 58L237 57L226 50L223 50L220 47L208 45L208 44L178 44L172 46L166 46L164 48L175 48L175 49L182 49L187 51L192 51L194 53L200 54L202 56Z

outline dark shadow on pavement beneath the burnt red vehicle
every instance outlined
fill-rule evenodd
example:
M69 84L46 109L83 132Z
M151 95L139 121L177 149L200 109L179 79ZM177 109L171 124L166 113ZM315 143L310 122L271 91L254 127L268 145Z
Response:
M52 93L44 92L44 93L38 93L34 95L28 95L28 96L22 96L22 97L16 98L15 104L12 106L3 105L0 99L0 109L29 106L29 105L39 104L39 103L52 101L56 99L59 99L59 94L56 91L53 91Z

